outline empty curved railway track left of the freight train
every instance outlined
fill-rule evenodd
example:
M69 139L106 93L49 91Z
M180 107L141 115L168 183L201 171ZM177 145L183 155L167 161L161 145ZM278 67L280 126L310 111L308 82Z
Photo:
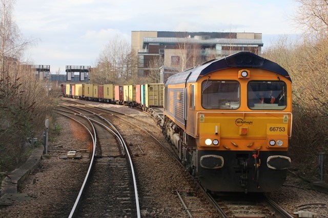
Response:
M108 120L91 111L63 108L61 114L88 120L85 126L93 130L95 144L89 171L70 217L140 217L134 169L120 133Z

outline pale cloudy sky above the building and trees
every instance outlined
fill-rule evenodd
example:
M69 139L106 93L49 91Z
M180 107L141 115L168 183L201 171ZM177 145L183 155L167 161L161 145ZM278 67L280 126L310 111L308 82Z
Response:
M13 17L26 52L54 74L66 65L94 66L115 35L131 43L131 31L262 33L264 49L278 35L296 34L293 0L16 0Z

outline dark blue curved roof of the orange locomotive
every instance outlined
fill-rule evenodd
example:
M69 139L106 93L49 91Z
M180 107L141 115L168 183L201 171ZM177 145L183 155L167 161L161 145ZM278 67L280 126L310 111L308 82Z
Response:
M277 63L257 56L251 52L239 52L221 59L211 60L200 66L179 72L178 74L169 77L165 82L165 85L186 83L187 80L189 83L196 82L201 77L206 76L213 71L233 67L265 69L275 72L276 74L279 74L292 81L288 72Z

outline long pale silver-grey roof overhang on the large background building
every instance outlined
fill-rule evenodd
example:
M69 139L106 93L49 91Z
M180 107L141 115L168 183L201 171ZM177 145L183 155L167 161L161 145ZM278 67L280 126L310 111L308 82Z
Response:
M237 45L237 44L255 44L263 46L262 39L234 39L234 38L210 38L210 39L198 39L198 38L175 38L175 37L145 37L144 43L196 43L196 44L222 44L222 45Z

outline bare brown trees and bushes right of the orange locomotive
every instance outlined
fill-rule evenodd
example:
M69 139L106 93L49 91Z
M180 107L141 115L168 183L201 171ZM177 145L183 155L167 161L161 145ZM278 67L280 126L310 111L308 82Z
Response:
M328 154L328 1L296 2L298 15L293 20L303 34L296 40L281 36L263 56L291 75L294 108L290 153L295 166L317 176L318 155ZM327 175L327 161L325 165Z

